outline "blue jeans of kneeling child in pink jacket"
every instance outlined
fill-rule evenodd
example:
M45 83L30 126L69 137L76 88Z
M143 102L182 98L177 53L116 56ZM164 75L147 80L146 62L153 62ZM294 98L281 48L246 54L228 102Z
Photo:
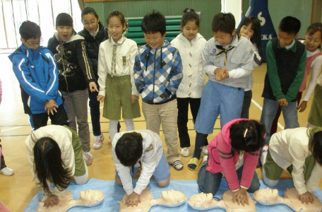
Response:
M198 179L197 179L198 187L201 192L203 192L205 194L211 193L215 196L215 194L218 192L218 189L220 186L220 182L222 179L222 172L213 174L213 173L205 170L205 168L207 166L208 166L208 161L207 161L207 163L204 163L203 166L201 166L201 168L198 172ZM243 171L243 167L244 166L241 166L237 170L237 175L238 175L239 181L241 179L241 173ZM251 181L251 187L249 187L247 192L254 193L259 189L260 186L261 186L261 184L259 183L258 176L257 176L256 172L254 172L253 180Z

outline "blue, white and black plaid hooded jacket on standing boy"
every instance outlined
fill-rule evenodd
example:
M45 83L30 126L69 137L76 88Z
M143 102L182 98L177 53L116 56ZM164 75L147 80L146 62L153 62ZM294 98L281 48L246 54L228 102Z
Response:
M167 40L158 49L149 45L138 49L134 79L143 102L155 104L175 98L182 76L179 51Z

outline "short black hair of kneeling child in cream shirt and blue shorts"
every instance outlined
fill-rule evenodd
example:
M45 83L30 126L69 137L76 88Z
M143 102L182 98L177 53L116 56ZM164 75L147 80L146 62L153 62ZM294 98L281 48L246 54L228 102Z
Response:
M115 153L121 165L136 165L143 154L143 137L136 131L123 134L117 141Z

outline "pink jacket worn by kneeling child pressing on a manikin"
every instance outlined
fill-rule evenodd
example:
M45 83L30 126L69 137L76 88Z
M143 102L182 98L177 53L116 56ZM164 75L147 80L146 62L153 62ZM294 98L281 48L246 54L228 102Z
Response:
M244 167L241 174L241 181L239 183L235 164L238 161L239 155L235 153L232 155L232 144L229 138L230 126L240 121L246 121L249 119L234 119L227 122L222 131L210 141L208 145L209 161L207 171L213 174L218 172L224 172L229 189L236 190L240 186L249 188L251 181L253 180L254 172L258 162L259 150L253 153L244 153Z

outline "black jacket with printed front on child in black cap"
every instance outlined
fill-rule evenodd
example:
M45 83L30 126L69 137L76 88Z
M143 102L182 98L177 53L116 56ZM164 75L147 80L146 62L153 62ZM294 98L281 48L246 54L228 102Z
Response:
M85 90L88 83L95 82L92 64L86 54L84 37L73 32L61 45L56 32L48 41L48 49L54 54L59 70L59 90Z

